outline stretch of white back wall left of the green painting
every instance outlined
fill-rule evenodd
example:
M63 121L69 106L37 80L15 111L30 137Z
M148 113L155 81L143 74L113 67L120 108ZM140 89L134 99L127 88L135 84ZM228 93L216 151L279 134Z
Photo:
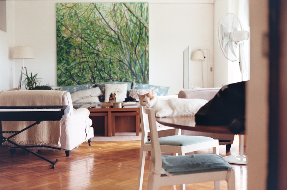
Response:
M24 60L28 73L38 73L42 85L56 86L55 1L15 1L15 46L22 45L32 46L35 53L35 59ZM15 60L16 69L21 65L22 60Z

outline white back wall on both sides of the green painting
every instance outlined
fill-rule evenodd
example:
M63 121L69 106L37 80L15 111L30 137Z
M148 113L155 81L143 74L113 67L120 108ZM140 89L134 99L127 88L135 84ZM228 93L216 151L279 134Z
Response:
M33 46L35 59L26 59L24 63L28 73L38 73L42 85L56 86L56 3L59 2L80 1L14 1L15 44L9 47ZM213 52L214 4L212 0L148 2L149 83L170 86L168 94L177 94L183 88L183 50L191 46L192 50ZM1 87L0 91L18 86L21 65L22 60L15 60L13 85ZM201 70L193 71L193 76L201 81Z

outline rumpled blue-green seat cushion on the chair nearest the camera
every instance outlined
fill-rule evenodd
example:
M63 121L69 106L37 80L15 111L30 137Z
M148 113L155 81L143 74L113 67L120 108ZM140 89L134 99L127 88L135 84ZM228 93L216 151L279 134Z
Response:
M232 167L218 154L192 154L185 156L162 156L162 168L172 174L231 170Z

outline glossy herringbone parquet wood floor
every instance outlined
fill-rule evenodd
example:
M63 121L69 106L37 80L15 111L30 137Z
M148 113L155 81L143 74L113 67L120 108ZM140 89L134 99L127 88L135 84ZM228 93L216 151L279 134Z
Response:
M140 141L84 143L66 157L64 151L40 150L39 154L54 161L55 169L46 162L23 150L11 155L9 149L0 146L0 189L137 189ZM230 152L220 146L220 155L238 154L236 139ZM212 152L212 150L195 153ZM148 177L150 154L146 155L144 188ZM236 190L247 189L247 166L232 164L235 170ZM173 189L172 186L160 189ZM179 189L179 186L177 186ZM186 185L187 190L213 189L213 183ZM225 181L221 189L227 189Z

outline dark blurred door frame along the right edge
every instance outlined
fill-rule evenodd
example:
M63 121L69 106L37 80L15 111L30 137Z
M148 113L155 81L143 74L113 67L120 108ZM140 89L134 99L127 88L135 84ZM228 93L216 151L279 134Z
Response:
M268 190L287 187L287 17L286 0L269 0Z

